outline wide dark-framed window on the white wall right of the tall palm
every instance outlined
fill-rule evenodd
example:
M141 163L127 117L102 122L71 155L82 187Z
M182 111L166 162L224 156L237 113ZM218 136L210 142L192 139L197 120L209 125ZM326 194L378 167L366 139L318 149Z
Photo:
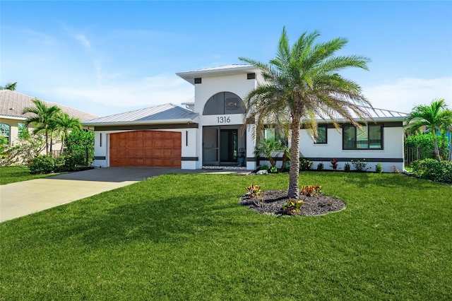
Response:
M343 149L383 149L383 126L381 124L362 126L345 125L342 130Z

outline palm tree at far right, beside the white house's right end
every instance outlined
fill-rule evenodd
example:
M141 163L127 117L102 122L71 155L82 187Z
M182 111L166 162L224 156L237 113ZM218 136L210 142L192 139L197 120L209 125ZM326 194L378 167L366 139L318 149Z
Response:
M430 105L415 106L405 119L407 122L405 127L408 131L415 131L416 129L420 129L421 126L429 127L432 131L435 157L438 161L441 161L441 156L439 155L436 131L444 127L448 119L451 118L451 111L446 110L446 107L447 105L444 99L432 100Z

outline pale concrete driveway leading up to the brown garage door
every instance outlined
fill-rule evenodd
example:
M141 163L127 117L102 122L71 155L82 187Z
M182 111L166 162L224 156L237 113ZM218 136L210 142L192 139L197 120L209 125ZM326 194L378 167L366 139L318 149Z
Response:
M0 222L124 187L148 177L195 172L203 171L158 167L107 167L1 185Z

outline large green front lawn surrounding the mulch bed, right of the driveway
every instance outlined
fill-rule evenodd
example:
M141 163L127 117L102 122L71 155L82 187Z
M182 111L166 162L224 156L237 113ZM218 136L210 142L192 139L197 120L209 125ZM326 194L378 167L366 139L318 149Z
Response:
M452 300L452 187L303 172L347 208L263 216L245 186L164 175L0 224L1 300Z

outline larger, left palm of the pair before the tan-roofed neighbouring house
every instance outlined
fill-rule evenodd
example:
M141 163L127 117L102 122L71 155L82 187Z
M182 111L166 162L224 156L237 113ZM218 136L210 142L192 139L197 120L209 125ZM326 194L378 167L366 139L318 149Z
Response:
M46 154L49 153L49 133L52 132L53 124L55 123L55 119L57 114L61 112L61 109L56 105L52 107L47 107L47 105L37 98L33 99L32 102L35 104L35 107L25 107L23 109L22 114L33 113L35 116L28 117L25 120L25 124L28 126L29 124L34 125L35 129L33 133L37 133L38 131L44 131L45 134L45 151Z

